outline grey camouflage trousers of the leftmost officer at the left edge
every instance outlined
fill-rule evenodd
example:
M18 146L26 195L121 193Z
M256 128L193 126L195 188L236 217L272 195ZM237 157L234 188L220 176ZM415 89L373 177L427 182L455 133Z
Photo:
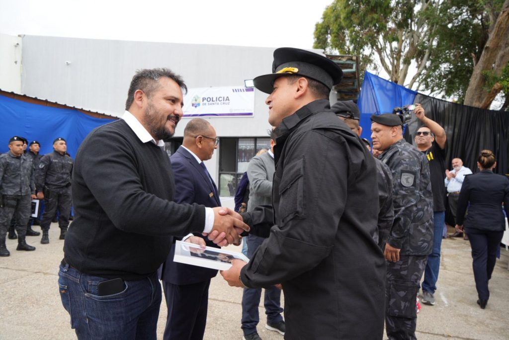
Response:
M32 197L29 195L3 195L0 208L0 239L5 239L14 216L15 229L19 237L26 235L26 224L32 215Z

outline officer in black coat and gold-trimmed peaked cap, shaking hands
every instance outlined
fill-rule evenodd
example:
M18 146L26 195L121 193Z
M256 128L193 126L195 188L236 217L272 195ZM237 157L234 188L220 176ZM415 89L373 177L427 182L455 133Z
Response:
M376 165L330 110L343 72L296 48L276 49L272 72L253 79L270 94L269 123L277 127L272 207L242 215L254 229L270 224L270 234L249 263L234 260L221 275L237 287L281 284L285 338L381 339L385 261L373 239Z

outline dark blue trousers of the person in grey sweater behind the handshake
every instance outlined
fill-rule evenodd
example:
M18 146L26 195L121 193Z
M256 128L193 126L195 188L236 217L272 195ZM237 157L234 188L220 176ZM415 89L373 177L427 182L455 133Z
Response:
M263 243L265 238L254 235L249 235L247 238L247 254L248 258L251 259L254 252ZM242 293L242 331L244 335L256 333L256 326L260 322L260 315L258 313L258 305L260 304L260 298L262 296L261 288L244 288ZM281 313L281 290L271 286L265 289L265 314L267 314L267 323L276 324L282 321Z

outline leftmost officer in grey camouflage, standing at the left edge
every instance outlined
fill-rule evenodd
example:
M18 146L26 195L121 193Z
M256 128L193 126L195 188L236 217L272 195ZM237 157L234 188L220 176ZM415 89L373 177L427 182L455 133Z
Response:
M32 199L35 198L34 164L23 155L23 141L14 136L9 140L9 152L0 156L0 256L10 255L5 238L12 216L18 233L16 250L35 250L26 244L26 223L30 218Z

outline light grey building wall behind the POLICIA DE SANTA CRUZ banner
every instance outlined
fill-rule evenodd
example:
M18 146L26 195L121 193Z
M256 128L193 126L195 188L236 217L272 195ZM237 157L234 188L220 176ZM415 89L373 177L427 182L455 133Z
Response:
M188 88L243 87L244 80L272 71L273 51L261 47L25 36L21 90L29 96L120 116L137 69L167 67L180 74ZM219 137L267 137L271 128L267 96L254 91L253 117L206 119ZM187 121L179 123L176 136L182 136ZM218 151L207 161L216 181Z

